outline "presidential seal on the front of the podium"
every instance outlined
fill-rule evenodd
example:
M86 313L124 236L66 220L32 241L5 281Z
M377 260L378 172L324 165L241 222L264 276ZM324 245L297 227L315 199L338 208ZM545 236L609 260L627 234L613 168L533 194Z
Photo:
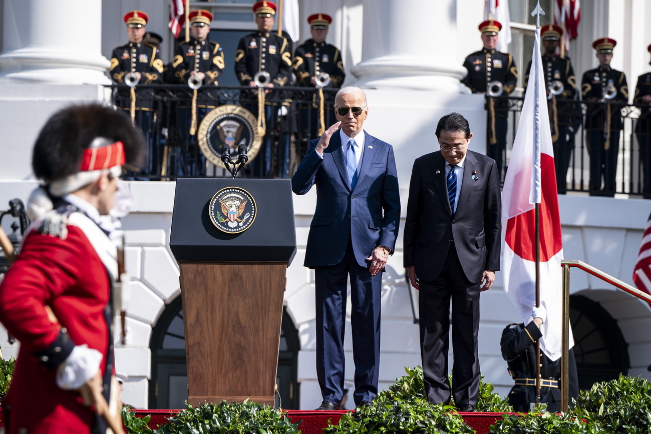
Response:
M228 234L247 230L253 224L256 212L253 196L240 187L226 187L217 191L208 206L212 224Z

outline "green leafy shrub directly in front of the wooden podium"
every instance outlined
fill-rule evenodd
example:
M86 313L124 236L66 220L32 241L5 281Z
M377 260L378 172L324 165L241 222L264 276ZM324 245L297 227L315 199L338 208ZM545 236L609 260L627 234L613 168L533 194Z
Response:
M269 405L248 402L187 406L156 434L298 434L298 423Z

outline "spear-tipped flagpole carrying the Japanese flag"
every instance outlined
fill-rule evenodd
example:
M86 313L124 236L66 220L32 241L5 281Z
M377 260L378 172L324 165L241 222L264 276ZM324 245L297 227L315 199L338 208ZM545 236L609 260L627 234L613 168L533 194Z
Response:
M536 8L531 12L532 16L536 16L536 40L540 40L540 16L544 15L542 8L540 8L540 1L536 5ZM538 51L536 55L540 56ZM538 62L532 60L532 64L536 65L536 70L538 69ZM538 72L534 75L536 80L538 79ZM536 81L535 88L535 104L534 104L534 150L536 149L535 143L538 142L538 154L540 154L540 83ZM534 155L534 162L536 161L536 156ZM540 157L538 157L538 164L540 164ZM536 204L536 223L535 223L535 249L536 249L536 307L540 307L540 198L535 198ZM536 407L540 407L540 339L536 340Z

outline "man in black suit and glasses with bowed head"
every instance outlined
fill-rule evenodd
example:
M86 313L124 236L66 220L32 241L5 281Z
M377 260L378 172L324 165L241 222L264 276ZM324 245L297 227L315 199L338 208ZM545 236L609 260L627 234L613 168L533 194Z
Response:
M479 393L479 293L499 270L501 199L492 158L469 151L473 137L458 113L439 120L441 150L416 159L409 183L404 266L420 290L421 357L428 401L475 411ZM482 282L484 286L480 288ZM452 385L448 332L452 299Z

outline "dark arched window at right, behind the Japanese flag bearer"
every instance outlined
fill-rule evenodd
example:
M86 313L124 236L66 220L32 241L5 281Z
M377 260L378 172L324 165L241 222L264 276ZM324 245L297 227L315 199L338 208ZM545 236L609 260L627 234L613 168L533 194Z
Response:
M570 296L570 323L580 388L628 373L628 344L617 321L599 303Z

